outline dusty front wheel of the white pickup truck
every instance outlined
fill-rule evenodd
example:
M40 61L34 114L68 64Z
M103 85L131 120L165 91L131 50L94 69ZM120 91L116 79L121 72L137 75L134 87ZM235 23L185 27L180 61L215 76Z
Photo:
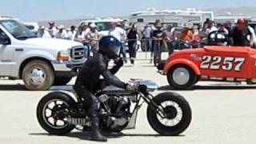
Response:
M22 79L28 90L48 90L54 84L54 70L47 62L31 61L24 67Z

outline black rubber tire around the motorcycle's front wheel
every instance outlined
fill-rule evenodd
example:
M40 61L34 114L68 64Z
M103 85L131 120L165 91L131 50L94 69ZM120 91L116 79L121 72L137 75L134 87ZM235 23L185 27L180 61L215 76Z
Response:
M175 103L175 105L179 106L179 109L182 110L182 118L180 119L180 121L174 125L174 126L165 126L162 122L159 121L159 116L157 114L157 110L154 110L153 108L153 104L151 102L151 104L147 107L147 119L148 122L150 123L150 126L156 131L158 132L158 134L162 134L165 136L176 136L178 134L181 134L183 131L185 131L188 126L190 126L190 122L192 119L192 114L191 114L191 109L190 109L190 105L189 103L186 101L185 98L183 98L182 96L180 96L179 94L176 93L162 93L162 94L158 94L156 97L153 98L153 102L155 104L157 104L158 106L162 105L163 102L173 102ZM164 108L166 110L170 110L170 111L166 111L166 114L175 113L175 111L173 111L174 109L171 108L172 106L167 106L168 108ZM171 112L172 111L172 112ZM175 114L178 114L177 111ZM172 114L169 114L172 115ZM170 116L172 118L178 118L178 115L176 116ZM167 120L171 120L167 118Z

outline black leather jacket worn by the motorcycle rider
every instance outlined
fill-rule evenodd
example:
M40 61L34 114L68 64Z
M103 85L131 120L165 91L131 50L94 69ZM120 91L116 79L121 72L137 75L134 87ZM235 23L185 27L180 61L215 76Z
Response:
M82 66L77 81L81 82L87 90L96 92L100 89L100 77L102 76L108 85L125 89L126 83L114 76L122 67L123 63L118 62L112 69L108 70L108 62L108 59L104 58L102 54L94 54L94 56L89 58L84 66Z

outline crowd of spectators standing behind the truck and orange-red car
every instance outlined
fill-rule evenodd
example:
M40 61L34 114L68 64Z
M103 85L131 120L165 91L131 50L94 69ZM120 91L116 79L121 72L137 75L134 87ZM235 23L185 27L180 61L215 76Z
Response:
M161 60L161 53L165 48L172 54L174 50L198 48L207 44L256 46L254 29L248 26L245 19L238 19L234 25L231 22L215 23L206 19L202 26L187 23L182 27L163 26L160 20L156 20L154 26L146 25L142 30L138 30L134 23L125 26L122 22L111 22L108 35L121 42L124 62L127 62L128 50L133 65L139 47L150 51L150 62L154 60L156 64ZM38 38L61 38L82 42L90 50L89 55L98 51L98 41L101 37L98 27L93 22L83 23L78 27L70 26L68 31L63 25L55 26L54 22L49 22L48 28L40 26L38 30ZM210 42L209 39L214 41Z

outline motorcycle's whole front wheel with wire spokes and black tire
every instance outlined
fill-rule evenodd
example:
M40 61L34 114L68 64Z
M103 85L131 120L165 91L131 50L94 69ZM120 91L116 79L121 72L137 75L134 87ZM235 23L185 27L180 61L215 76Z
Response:
M186 99L176 93L163 93L154 97L155 104L164 115L158 114L153 106L147 108L150 126L162 135L178 135L190 126L191 109Z

